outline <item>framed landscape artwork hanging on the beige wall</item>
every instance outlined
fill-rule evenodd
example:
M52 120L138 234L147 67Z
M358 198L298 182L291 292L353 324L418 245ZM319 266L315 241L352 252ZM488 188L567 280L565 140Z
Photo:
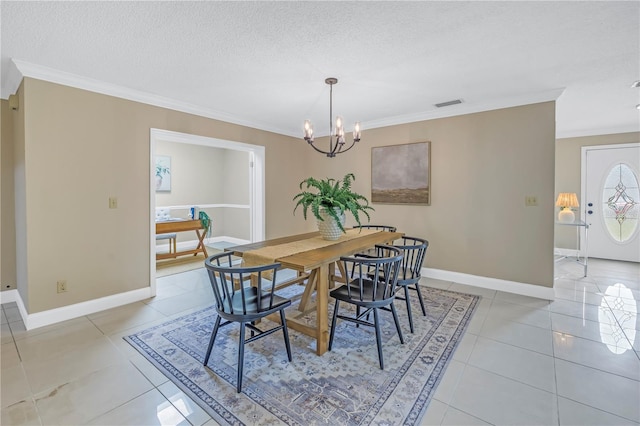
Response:
M431 204L431 142L371 148L371 202Z

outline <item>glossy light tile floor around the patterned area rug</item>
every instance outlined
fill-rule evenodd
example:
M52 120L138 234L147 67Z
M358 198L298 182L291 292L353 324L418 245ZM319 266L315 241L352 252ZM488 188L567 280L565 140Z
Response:
M423 279L483 298L423 424L640 424L640 265L557 264L547 301ZM2 305L3 425L213 425L122 336L206 306L204 270L153 299L25 331Z

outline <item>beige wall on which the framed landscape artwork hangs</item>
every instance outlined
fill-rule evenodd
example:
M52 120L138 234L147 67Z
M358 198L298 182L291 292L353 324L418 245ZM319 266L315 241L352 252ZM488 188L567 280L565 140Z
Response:
M335 159L309 150L307 174L352 171L370 197L371 148L421 141L431 141L431 205L374 204L371 222L428 239L427 267L552 286L555 103L365 129ZM526 195L539 205L525 207Z

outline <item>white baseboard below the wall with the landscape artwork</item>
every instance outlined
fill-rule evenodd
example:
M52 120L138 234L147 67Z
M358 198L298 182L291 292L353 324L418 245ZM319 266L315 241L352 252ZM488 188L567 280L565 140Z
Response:
M463 274L461 272L445 271L442 269L422 268L421 272L422 276L427 278L451 281L474 287L487 288L490 290L506 291L507 293L515 293L539 299L555 299L553 287L543 287L539 285L519 283L516 281L501 280L498 278L481 277L478 275Z

